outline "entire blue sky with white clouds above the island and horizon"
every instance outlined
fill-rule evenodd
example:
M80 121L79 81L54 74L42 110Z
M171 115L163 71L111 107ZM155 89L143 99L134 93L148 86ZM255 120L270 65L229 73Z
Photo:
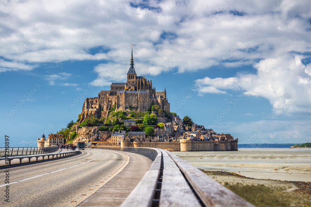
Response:
M85 97L137 75L239 143L310 142L308 1L0 3L1 134L36 146ZM81 98L83 97L83 98ZM77 101L76 101L77 100Z

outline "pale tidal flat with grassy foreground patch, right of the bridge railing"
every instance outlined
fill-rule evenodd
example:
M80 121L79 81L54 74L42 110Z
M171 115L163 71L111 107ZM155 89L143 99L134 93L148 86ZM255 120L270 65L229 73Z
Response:
M311 206L310 148L173 153L255 206Z

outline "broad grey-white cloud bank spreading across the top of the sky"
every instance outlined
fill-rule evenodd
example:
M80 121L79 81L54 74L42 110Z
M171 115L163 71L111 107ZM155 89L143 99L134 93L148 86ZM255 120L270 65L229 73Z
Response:
M293 52L310 51L308 1L135 0L117 8L119 3L34 0L8 11L10 1L4 1L0 56L26 65L74 60L126 65L134 44L136 63L156 75L253 64L275 56L293 37L299 37Z

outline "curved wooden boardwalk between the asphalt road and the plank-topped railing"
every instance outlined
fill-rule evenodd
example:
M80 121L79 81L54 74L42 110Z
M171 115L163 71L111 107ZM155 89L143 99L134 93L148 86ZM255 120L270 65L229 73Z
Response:
M149 170L152 160L130 152L121 152L130 157L128 165L98 191L77 206L119 206L134 190Z

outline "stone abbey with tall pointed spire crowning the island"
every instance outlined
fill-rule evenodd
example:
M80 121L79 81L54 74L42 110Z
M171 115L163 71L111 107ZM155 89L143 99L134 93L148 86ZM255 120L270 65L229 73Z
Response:
M82 108L82 119L90 114L96 117L106 117L108 110L114 106L116 110L145 112L152 102L160 105L161 109L170 111L165 88L164 91L156 91L156 88L152 86L151 79L137 76L132 48L126 83L112 83L109 91L100 91L98 97L86 98Z

